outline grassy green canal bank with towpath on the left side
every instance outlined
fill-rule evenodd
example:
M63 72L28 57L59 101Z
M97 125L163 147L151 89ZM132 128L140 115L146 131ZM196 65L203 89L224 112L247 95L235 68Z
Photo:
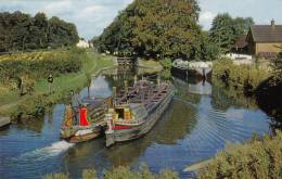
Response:
M38 57L41 56L38 55ZM53 104L69 99L72 90L78 91L85 87L89 82L90 76L100 68L114 65L111 57L102 56L90 50L82 52L77 57L81 57L80 69L54 76L51 93L49 92L49 84L43 78L34 80L33 92L25 95L18 95L15 88L11 90L11 87L9 89L1 86L0 116L10 116L15 119L41 115L49 111Z

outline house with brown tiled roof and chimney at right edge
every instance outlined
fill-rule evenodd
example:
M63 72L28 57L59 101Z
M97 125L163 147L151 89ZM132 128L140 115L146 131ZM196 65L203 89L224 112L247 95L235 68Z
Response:
M245 42L248 54L265 59L274 57L282 51L282 25L275 25L274 20L271 25L254 25L249 28ZM242 48L246 48L244 42Z

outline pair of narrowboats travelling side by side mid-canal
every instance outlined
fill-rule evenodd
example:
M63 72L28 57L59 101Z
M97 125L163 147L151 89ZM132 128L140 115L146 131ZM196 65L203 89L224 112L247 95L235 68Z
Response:
M84 105L68 105L61 137L69 142L84 142L102 133L106 146L137 139L149 132L167 108L175 88L169 82L136 81L133 87L107 99L84 100Z

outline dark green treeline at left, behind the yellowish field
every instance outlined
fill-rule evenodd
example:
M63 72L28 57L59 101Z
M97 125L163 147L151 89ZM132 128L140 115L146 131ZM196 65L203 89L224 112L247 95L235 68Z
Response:
M0 52L66 47L78 40L76 26L56 16L48 20L44 13L0 13Z

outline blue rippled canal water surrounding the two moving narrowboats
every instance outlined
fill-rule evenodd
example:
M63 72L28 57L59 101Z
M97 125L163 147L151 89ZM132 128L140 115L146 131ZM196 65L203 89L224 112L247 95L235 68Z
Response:
M155 80L156 74L112 69L93 77L85 98L108 97L133 76ZM142 75L143 74L143 75ZM54 106L43 118L25 119L0 131L0 178L40 178L50 172L68 172L79 178L81 170L94 167L102 175L114 166L137 168L145 163L153 172L171 168L181 178L187 165L214 156L227 143L242 142L253 133L271 132L270 117L243 97L230 97L208 81L185 81L172 77L177 95L156 126L143 138L105 148L103 137L72 144L60 140L64 104ZM90 93L88 93L90 91ZM242 101L242 102L240 102ZM251 102L252 103L252 102Z

